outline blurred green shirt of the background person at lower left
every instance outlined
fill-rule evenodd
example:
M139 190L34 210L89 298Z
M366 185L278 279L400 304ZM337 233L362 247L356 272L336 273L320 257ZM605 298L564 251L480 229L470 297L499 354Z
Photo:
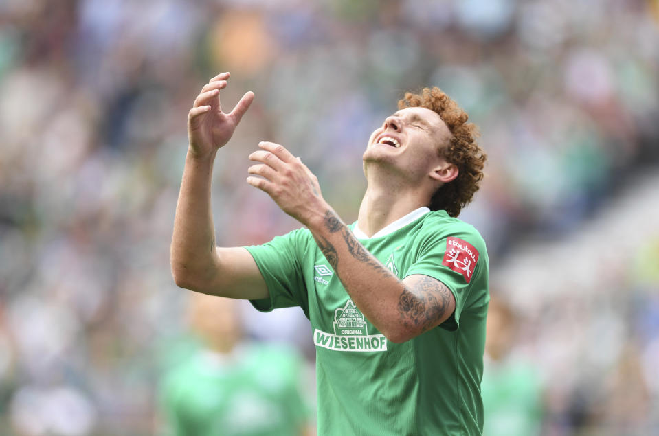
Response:
M228 356L198 350L161 383L166 435L300 435L309 422L302 367L288 347L245 345Z

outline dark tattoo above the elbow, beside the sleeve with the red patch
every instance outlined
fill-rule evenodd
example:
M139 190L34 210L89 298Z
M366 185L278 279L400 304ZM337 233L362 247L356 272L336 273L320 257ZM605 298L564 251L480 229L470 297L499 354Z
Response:
M398 310L403 323L421 327L421 332L434 328L451 314L453 294L445 284L427 275L414 277L401 292Z

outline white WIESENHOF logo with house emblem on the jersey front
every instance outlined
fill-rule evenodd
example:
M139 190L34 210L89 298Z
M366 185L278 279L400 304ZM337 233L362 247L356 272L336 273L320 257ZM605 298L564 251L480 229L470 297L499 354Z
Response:
M334 333L313 331L313 343L318 347L345 352L383 352L387 350L387 339L383 334L368 334L364 315L353 300L334 311L332 323Z

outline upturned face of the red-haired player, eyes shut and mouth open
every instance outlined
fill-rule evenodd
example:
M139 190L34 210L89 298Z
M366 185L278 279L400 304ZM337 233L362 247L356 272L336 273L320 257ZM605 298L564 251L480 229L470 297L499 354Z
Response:
M397 111L370 135L364 152L364 172L371 163L386 165L407 179L427 177L445 160L439 150L451 137L441 117L427 108L413 107Z

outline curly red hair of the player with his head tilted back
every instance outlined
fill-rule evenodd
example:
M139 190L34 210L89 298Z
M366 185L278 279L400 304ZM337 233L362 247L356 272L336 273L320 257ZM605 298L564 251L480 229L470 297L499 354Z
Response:
M438 87L424 88L420 94L407 92L398 108L422 107L438 113L451 131L451 139L439 149L440 154L458 167L458 176L442 185L430 199L432 210L445 210L458 216L473 198L483 179L487 154L476 144L478 128L468 123L469 115Z

